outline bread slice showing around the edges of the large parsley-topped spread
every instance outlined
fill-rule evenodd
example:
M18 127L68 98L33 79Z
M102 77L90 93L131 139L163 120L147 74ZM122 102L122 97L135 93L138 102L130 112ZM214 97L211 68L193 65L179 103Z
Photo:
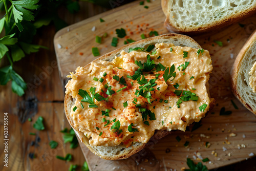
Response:
M113 60L115 58L115 56L120 56L120 52L121 51L129 51L129 48L135 48L135 47L140 47L140 48L146 48L148 45L155 45L157 43L161 43L161 42L165 42L165 43L173 43L175 46L187 46L187 47L192 47L192 48L201 48L201 46L192 38L185 36L185 35L180 35L180 34L165 34L165 35L160 35L160 36L156 36L156 37L152 37L152 38L147 38L147 39L143 39L137 42L134 42L132 44L128 44L125 45L117 50L114 50L110 53L107 53L101 57L99 57L98 59L94 60L94 62L99 61L99 60ZM86 66L86 67L90 67L90 63ZM208 85L206 85L208 86ZM208 88L208 87L207 87ZM209 89L207 89L209 90ZM209 91L207 91L208 95L209 95ZM84 134L82 132L80 132L77 127L74 127L74 122L72 120L72 118L70 117L70 112L71 112L71 108L75 103L75 99L72 99L71 96L67 95L65 96L65 113L67 116L67 119L70 123L70 125L73 127L73 129L75 130L76 134L78 135L78 137L80 138L80 140L90 149L90 151L92 151L95 155L106 159L106 160L119 160L119 159L126 159L130 156L132 156L133 154L139 152L141 149L145 148L146 146L152 144L152 140L158 140L168 134L170 134L170 132L166 131L166 130L160 130L160 131L156 131L154 136L151 138L151 141L149 141L147 144L143 144L143 143L133 143L131 146L126 147L126 145L123 145L122 143L118 146L91 146L89 144L89 139L84 136ZM214 107L214 103L215 100L214 99L210 99L210 104L209 104L209 110L211 110Z

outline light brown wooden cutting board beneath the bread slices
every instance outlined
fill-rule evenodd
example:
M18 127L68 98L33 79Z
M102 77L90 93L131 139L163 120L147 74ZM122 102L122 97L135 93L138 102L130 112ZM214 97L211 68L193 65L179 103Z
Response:
M98 47L101 55L116 49L111 46L112 38L117 37L115 29L124 28L127 36L134 40L140 40L142 33L148 36L152 30L159 34L168 33L163 25L165 16L161 10L161 2L145 2L144 5L149 8L143 8L136 1L57 32L54 46L63 83L66 83L69 72L96 59L92 55L92 47ZM100 23L99 18L103 18L105 22ZM93 27L95 31L92 31ZM218 33L193 36L202 48L210 52L214 66L209 83L216 106L202 119L199 129L193 132L174 131L171 135L152 142L150 148L120 161L103 160L80 143L91 170L180 170L182 167L188 168L186 158L200 162L201 160L194 159L198 158L197 153L202 158L208 158L210 162L203 164L208 169L213 169L248 159L251 157L250 153L256 155L256 117L234 98L229 88L229 73L234 59L255 28L256 15L243 20L240 25L233 24ZM104 33L108 33L108 36L102 38L102 44L97 44L95 36L102 36ZM125 38L119 38L117 48L123 45L124 40ZM218 46L215 40L222 41L223 47ZM237 104L238 110L234 109L231 100ZM226 111L232 111L232 114L220 116L222 107ZM232 137L231 133L235 136ZM176 140L177 136L181 138L180 142ZM186 141L189 142L187 148L184 146ZM205 147L206 142L210 143L208 148Z

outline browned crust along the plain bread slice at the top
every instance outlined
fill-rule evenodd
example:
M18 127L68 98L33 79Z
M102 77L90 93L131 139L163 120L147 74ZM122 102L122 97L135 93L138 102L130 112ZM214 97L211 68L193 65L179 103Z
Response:
M256 6L245 10L245 11L240 11L239 13L236 13L234 15L226 16L225 18L219 20L218 22L211 23L209 25L205 26L194 26L194 27L187 27L183 29L182 27L176 27L172 22L170 22L170 16L168 15L168 1L169 0L162 0L162 10L164 14L166 15L166 19L164 22L165 27L167 30L170 32L175 32L175 33L180 33L180 34L187 34L187 35L197 35L197 34L202 34L205 32L209 31L218 31L221 30L222 28L229 26L233 23L238 23L241 20L243 20L246 17L249 17L253 14L256 13ZM165 6L163 6L165 4Z

